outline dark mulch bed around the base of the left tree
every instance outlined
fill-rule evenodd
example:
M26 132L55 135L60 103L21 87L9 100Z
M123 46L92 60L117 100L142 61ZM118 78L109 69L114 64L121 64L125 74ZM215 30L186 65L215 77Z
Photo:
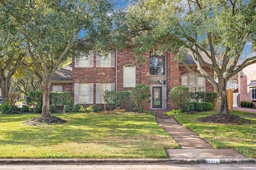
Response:
M32 119L26 120L23 123L26 125L38 126L38 125L50 125L50 124L63 124L67 121L61 119L60 117L50 116L50 117L34 117Z

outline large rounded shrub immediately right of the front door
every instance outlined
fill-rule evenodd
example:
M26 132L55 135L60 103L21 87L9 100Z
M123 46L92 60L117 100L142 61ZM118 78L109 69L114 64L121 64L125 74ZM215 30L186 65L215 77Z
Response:
M187 87L176 86L170 90L169 99L177 109L183 109L189 97L190 92Z

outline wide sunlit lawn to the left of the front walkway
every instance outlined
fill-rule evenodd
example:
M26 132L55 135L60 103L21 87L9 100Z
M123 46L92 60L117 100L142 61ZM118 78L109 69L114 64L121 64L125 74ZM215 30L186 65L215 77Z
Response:
M168 158L178 144L143 114L52 114L61 125L30 126L36 114L0 115L0 158Z

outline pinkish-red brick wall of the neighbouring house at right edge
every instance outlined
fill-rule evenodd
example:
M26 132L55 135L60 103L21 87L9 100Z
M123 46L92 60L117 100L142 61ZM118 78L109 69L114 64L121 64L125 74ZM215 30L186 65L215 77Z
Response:
M250 88L248 84L250 84L251 80L256 80L256 63L251 64L243 69L243 77L240 78L240 74L238 74L238 90L239 90L239 103L242 100L247 102L253 102L254 106L256 106L256 101L250 100Z

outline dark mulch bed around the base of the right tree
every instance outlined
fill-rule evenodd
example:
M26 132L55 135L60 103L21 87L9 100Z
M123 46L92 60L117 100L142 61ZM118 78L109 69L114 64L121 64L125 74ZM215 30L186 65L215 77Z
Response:
M234 125L242 125L246 123L250 123L250 120L244 119L242 117L227 114L227 115L210 115L199 119L200 122L203 123L222 123L222 124L234 124Z

